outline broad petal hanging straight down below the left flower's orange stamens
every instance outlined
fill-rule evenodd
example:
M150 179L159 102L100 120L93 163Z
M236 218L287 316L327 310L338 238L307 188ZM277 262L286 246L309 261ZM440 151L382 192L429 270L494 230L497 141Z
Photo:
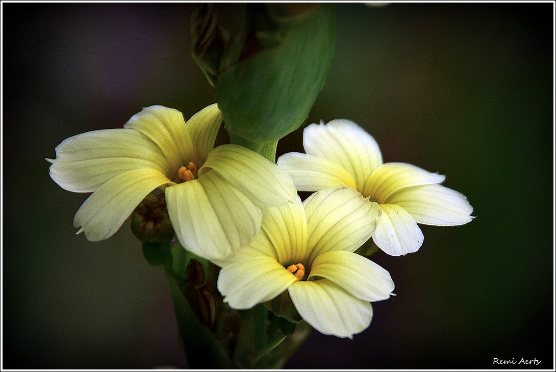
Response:
M259 231L260 209L215 172L167 187L165 194L180 243L206 259L226 259Z

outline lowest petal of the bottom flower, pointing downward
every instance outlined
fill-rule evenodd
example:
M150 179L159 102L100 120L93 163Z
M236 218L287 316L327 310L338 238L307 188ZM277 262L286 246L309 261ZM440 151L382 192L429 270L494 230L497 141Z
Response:
M288 291L299 315L325 335L353 338L373 319L370 303L327 279L296 281Z

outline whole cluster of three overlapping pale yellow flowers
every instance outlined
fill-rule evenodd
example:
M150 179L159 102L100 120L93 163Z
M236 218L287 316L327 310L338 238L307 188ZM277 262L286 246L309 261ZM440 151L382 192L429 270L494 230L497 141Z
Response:
M235 144L214 147L216 104L187 122L144 108L121 129L95 130L56 147L50 175L90 193L73 221L88 240L110 237L153 190L163 190L181 245L221 267L218 289L235 309L287 295L324 334L352 337L389 298L390 274L356 254L368 239L390 255L423 244L417 223L460 225L473 210L444 176L383 163L373 137L349 120L304 129L306 154L277 165ZM314 192L301 202L297 190Z

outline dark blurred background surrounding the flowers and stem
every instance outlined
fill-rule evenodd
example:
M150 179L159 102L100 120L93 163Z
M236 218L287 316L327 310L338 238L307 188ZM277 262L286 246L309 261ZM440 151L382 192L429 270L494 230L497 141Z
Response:
M75 235L86 195L59 188L44 158L147 105L188 118L214 102L190 57L193 8L3 3L4 368L187 367L162 270L128 222L103 242ZM241 4L215 8L239 27ZM417 253L376 254L397 296L374 304L354 340L314 331L286 368L523 357L552 369L553 4L338 4L334 61L307 123L335 118L365 127L385 162L445 174L476 219L421 226ZM301 150L301 135L279 154Z

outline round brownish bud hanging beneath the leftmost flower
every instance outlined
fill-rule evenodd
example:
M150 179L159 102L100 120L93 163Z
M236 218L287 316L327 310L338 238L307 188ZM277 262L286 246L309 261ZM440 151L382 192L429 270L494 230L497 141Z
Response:
M148 194L131 213L131 231L141 242L168 243L174 231L164 193Z

